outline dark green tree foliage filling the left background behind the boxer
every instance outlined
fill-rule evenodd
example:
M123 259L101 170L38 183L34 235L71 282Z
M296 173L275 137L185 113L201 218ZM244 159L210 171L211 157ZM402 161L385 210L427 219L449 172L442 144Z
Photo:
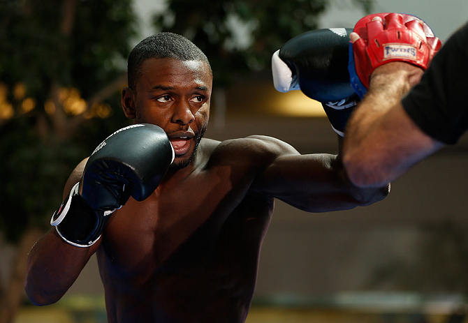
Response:
M0 0L0 112L13 108L0 113L0 232L8 240L30 225L46 228L75 165L128 124L119 87L98 95L111 110L105 120L65 113L57 93L75 89L87 102L126 73L136 35L131 2ZM56 112L46 113L47 102Z

